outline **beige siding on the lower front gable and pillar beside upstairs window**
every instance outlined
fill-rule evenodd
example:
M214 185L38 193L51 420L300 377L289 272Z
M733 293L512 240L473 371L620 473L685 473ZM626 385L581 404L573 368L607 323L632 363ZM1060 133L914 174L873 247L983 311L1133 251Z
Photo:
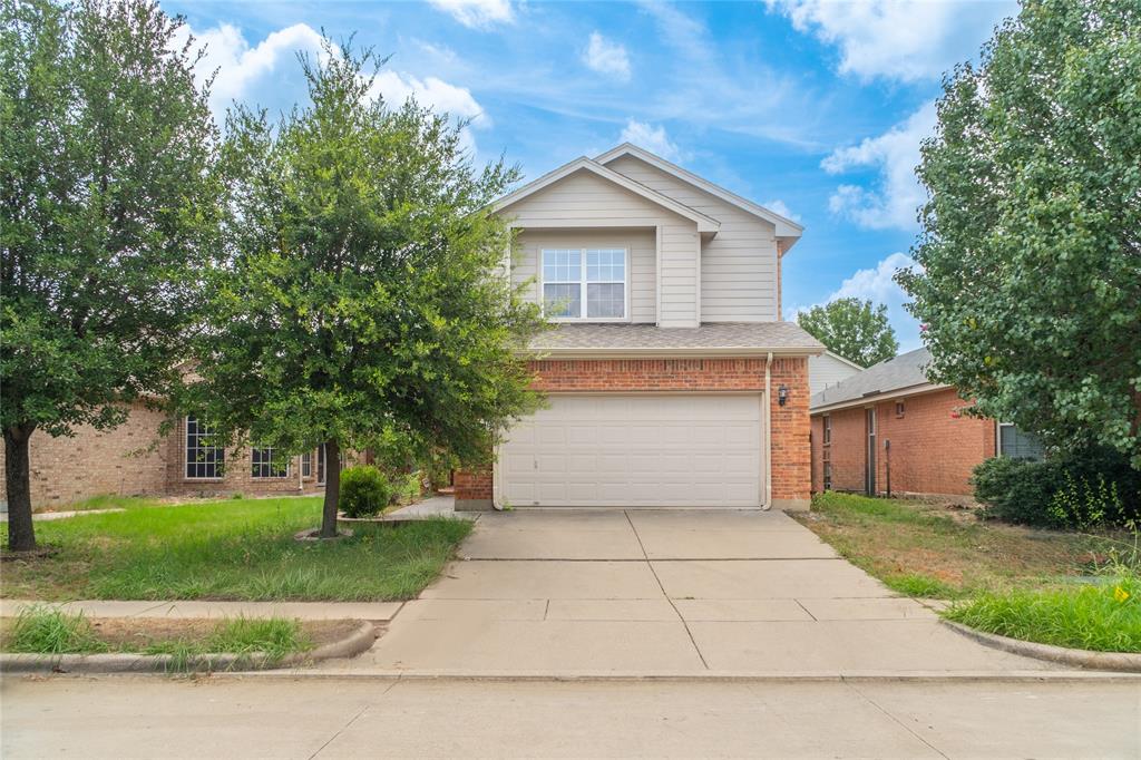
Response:
M631 306L637 321L653 322L647 298L653 292L661 293L657 309L658 324L663 326L695 326L697 324L697 262L701 238L697 225L661 205L589 171L578 171L524 197L502 210L503 216L516 227L533 235L556 233L568 236L574 231L599 234L606 237L610 228L626 235L632 229L655 234L661 231L661 241L655 241L654 260L661 256L661 281L654 282L654 268L642 257L631 265ZM515 267L516 281L535 276L535 259L518 261ZM656 267L655 267L656 268ZM641 277L648 274L648 284ZM649 290L647 290L649 289ZM537 292L536 292L537 298Z

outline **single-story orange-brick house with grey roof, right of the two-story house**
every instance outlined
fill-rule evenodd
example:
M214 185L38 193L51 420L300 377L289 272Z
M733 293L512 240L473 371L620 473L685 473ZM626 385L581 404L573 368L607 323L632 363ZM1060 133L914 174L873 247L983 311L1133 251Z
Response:
M812 396L814 492L970 495L982 460L1042 456L1013 426L964 414L971 403L930 382L930 362L920 348Z

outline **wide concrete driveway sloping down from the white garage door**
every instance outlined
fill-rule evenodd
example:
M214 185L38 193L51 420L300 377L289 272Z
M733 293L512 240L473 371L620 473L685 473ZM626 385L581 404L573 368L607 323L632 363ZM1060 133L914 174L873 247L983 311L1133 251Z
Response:
M783 512L479 517L362 657L463 676L920 674L1052 669L942 626Z

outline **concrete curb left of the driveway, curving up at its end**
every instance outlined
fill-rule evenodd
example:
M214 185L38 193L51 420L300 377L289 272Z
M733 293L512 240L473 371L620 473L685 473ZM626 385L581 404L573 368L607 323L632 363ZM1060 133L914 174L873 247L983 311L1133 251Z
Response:
M355 631L339 641L300 652L282 660L269 660L265 654L234 655L208 654L179 663L172 655L115 654L0 654L0 673L153 673L153 672L240 672L296 668L321 660L353 657L377 640L372 623L362 622Z

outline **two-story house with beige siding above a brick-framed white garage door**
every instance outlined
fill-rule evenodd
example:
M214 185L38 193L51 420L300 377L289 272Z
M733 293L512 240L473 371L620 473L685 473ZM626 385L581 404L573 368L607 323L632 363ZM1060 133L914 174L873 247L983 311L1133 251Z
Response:
M495 204L510 273L557 323L532 348L548 406L458 509L807 509L808 358L780 318L800 225L630 144Z

